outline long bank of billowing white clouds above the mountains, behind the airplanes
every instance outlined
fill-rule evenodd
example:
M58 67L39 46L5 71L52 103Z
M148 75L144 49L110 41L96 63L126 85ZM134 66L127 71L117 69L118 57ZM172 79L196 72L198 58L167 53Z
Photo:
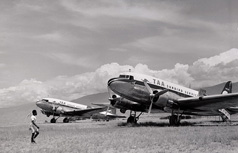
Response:
M177 63L173 69L151 70L146 64L105 64L94 72L74 76L58 76L41 82L23 80L15 87L0 89L0 107L35 102L43 97L73 100L85 95L107 91L107 81L128 71L143 73L183 86L200 88L231 80L238 81L238 49L231 49L217 56L203 58L192 65Z

